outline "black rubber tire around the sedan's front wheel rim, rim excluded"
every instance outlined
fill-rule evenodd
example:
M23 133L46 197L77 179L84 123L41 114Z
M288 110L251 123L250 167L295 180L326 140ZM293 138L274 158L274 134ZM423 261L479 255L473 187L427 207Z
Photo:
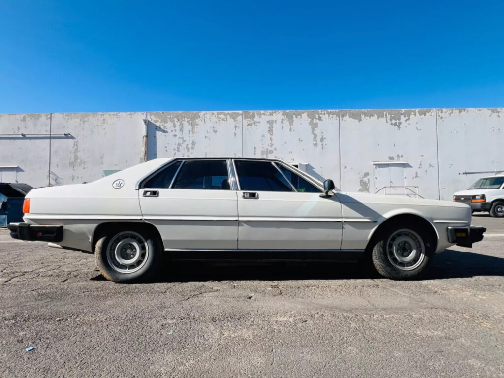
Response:
M425 247L425 254L422 263L413 270L406 271L399 269L395 267L389 260L387 242L392 234L400 229L408 229L418 234L418 236L422 239ZM377 237L376 243L374 244L372 249L373 265L381 275L387 278L402 280L418 278L424 272L425 268L429 265L430 260L434 254L432 246L433 241L430 240L427 232L421 230L421 227L394 224L383 230L383 232L380 233L380 236Z

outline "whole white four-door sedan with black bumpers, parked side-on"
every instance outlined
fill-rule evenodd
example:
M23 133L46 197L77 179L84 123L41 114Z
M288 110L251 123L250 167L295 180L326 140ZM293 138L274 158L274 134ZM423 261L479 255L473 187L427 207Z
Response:
M466 204L345 193L273 159L155 159L82 184L32 190L14 238L95 255L116 282L152 278L172 258L372 259L407 279L453 244L472 246Z

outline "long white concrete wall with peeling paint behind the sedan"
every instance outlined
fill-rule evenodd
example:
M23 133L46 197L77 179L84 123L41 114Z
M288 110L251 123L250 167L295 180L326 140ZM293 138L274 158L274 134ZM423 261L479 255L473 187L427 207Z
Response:
M461 173L504 170L503 122L504 109L0 114L0 180L94 180L141 162L146 131L147 159L279 158L347 191L450 200L485 175Z

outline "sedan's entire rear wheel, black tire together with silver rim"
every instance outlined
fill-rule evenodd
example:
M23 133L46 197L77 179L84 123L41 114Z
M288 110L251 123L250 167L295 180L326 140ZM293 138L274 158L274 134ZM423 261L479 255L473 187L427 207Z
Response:
M140 236L141 239L139 239L137 235ZM135 245L135 241L137 241L138 245ZM110 245L110 243L113 244ZM121 245L125 245L125 247L120 248L120 243L123 243ZM131 248L128 245L130 245ZM116 258L116 254L121 254L121 250L126 248L129 249L124 253L126 254L131 250L129 253L132 255L130 256L135 256L135 259L132 258L123 261L132 262L132 265L121 265ZM109 255L108 257L107 254ZM145 258L142 259L142 256ZM124 258L124 256L120 255L119 258ZM136 230L134 228L129 230L109 229L102 234L95 246L96 265L100 269L103 277L113 282L153 280L161 268L162 258L161 243L159 239L148 230ZM128 259L128 257L126 259ZM136 265L133 265L133 262L135 262ZM128 270L131 270L131 272L128 272Z

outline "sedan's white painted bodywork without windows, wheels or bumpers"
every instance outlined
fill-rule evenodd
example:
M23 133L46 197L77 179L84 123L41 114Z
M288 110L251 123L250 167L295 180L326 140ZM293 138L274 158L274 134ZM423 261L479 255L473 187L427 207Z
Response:
M104 222L151 223L167 249L362 250L382 222L415 214L437 233L437 252L451 245L447 227L471 220L464 204L362 193L324 199L317 193L257 192L257 200L244 200L242 191L161 189L158 198L144 198L139 180L171 160L151 160L90 183L36 188L26 197L31 204L24 220L63 225L58 244L82 250L91 250L94 231ZM124 181L120 188L112 186L117 179Z

